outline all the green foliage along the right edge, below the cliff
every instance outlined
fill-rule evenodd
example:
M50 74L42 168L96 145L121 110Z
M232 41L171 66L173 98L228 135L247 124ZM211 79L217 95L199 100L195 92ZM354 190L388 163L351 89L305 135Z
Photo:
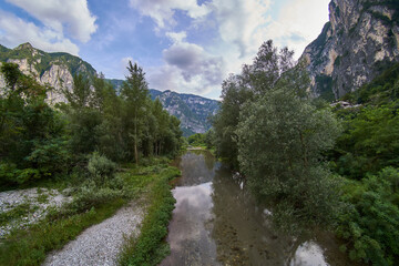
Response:
M336 110L345 131L330 153L330 165L347 177L347 208L339 215L337 234L350 258L372 265L399 264L398 84L399 64L393 64L345 95L361 106Z

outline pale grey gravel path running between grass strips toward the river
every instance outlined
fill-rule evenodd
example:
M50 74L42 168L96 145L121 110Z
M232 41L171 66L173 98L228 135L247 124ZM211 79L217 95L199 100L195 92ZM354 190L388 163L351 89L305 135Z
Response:
M144 207L131 203L114 216L85 229L61 250L51 253L43 265L116 265L124 238L139 235Z

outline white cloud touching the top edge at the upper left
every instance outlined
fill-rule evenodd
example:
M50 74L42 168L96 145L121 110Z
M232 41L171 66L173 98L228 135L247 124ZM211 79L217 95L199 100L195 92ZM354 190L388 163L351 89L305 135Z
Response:
M7 0L22 8L45 27L74 39L88 42L96 31L95 17L90 13L86 0Z

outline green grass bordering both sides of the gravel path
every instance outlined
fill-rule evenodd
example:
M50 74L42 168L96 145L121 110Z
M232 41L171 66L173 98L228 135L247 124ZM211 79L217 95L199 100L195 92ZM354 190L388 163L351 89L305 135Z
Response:
M160 158L153 160L147 166L126 165L127 168L124 172L119 173L110 184L103 187L91 186L90 183L78 183L79 186L74 188L74 200L71 203L61 209L49 211L45 219L29 228L16 229L7 239L0 241L0 265L40 265L48 253L62 248L85 228L111 217L127 201L143 196L150 201L149 215L144 219L143 234L139 237L139 244L130 250L137 252L135 254L140 257L149 252L147 256L156 254L154 258L161 259L161 254L165 255L168 250L161 242L167 234L167 224L174 208L168 180L180 174L176 168L168 167L167 162ZM39 193L40 200L47 201ZM0 221L8 222L17 216L22 217L30 208L21 206L10 211L12 213L2 213ZM155 232L151 232L152 226L155 226ZM154 246L143 249L143 244L140 243L150 239L149 237ZM160 246L163 246L163 252L158 252Z

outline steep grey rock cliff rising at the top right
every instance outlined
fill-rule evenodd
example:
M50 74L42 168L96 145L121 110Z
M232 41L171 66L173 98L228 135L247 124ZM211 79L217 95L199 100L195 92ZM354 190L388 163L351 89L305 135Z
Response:
M399 61L398 0L332 0L329 22L303 54L313 93L338 99Z

